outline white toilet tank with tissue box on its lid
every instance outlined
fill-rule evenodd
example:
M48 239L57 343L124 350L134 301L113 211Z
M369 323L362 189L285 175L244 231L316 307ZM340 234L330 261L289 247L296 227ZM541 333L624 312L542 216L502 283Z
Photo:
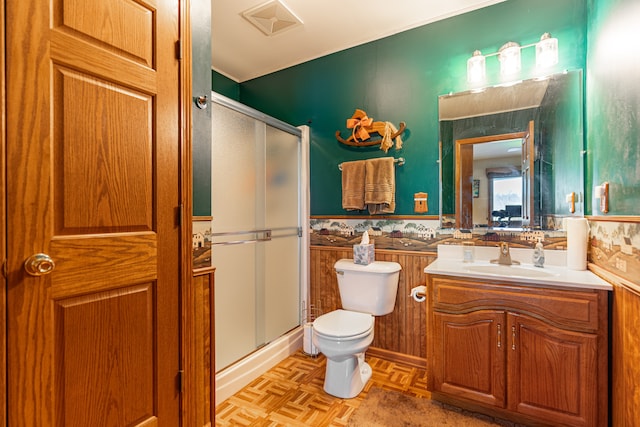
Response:
M397 262L374 261L355 264L352 259L338 260L334 268L345 310L382 316L393 311L402 267Z

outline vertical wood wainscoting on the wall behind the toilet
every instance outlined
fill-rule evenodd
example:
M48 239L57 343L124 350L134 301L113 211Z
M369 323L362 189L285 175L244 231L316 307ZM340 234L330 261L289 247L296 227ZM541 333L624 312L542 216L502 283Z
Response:
M333 265L352 258L351 248L311 246L310 303L328 313L342 307ZM392 313L376 318L375 336L368 353L418 367L426 366L426 304L409 296L411 289L424 285L424 268L437 254L376 249L376 261L394 261L402 266L396 305Z

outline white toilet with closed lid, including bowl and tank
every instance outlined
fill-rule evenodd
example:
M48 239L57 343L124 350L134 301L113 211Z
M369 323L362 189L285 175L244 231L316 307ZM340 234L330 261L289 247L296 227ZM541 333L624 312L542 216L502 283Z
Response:
M352 398L371 378L364 353L373 341L373 316L393 311L402 267L396 262L360 265L341 259L334 268L343 309L313 322L313 343L327 357L324 391Z

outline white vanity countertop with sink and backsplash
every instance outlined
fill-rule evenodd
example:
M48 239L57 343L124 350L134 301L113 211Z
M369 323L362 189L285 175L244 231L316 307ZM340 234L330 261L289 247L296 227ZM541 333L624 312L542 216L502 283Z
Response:
M517 284L576 289L602 289L612 291L613 286L588 270L570 270L566 267L566 251L546 250L544 267L531 263L533 249L512 248L511 259L520 265L492 264L498 258L497 247L474 247L474 262L462 261L462 246L439 245L438 259L425 269L428 274L497 280Z

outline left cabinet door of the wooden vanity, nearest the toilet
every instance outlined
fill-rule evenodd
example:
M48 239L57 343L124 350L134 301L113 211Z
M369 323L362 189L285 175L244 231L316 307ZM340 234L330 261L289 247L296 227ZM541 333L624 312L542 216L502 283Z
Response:
M433 319L433 391L504 407L505 312L436 312Z

